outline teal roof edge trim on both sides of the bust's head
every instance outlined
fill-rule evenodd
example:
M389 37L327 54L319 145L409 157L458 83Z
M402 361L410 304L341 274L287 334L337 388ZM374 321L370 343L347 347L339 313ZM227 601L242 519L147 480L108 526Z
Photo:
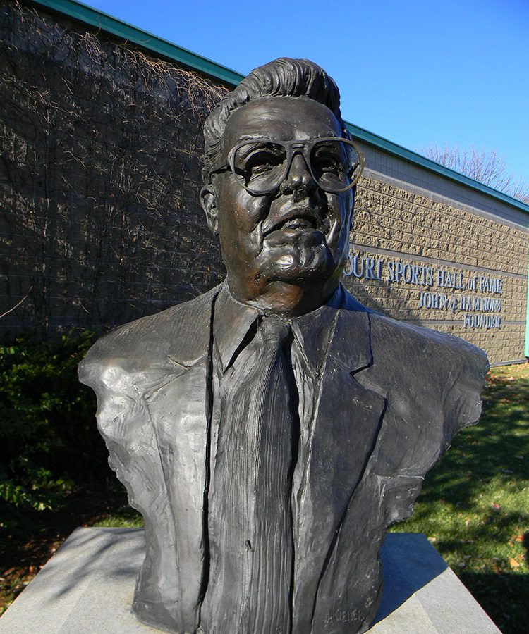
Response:
M113 18L107 13L97 11L97 9L87 6L86 4L82 4L77 0L29 1L30 4L48 8L50 11L66 15L68 18L78 20L81 23L96 27L99 30L109 33L110 35L132 42L147 51L151 51L171 61L176 61L191 70L197 70L208 77L220 80L228 86L235 87L239 82L241 82L241 80L243 80L244 75L236 73L236 71L231 70L231 68L221 66L221 64L217 64L210 59L197 55L187 49L183 49L181 46L172 44L172 42L169 42L166 39L162 39L156 35L152 35L152 33L138 29L137 27L127 24L122 20ZM529 205L516 198L512 198L503 192L499 192L493 187L483 185L481 182L473 180L473 178L469 178L468 176L455 172L450 168L439 165L439 163L435 163L435 161L431 161L425 156L421 156L420 154L406 149L399 144L391 142L388 139L384 139L384 137L375 135L374 132L369 132L369 130L360 128L358 125L348 123L347 121L345 123L347 129L351 132L353 137L356 137L360 141L370 144L371 146L396 156L399 159L408 161L408 163L413 163L414 165L437 173L444 178L454 180L461 185L470 187L470 189L477 189L478 192L481 192L482 194L486 194L487 196L495 198L501 202L517 207L525 213L529 213Z

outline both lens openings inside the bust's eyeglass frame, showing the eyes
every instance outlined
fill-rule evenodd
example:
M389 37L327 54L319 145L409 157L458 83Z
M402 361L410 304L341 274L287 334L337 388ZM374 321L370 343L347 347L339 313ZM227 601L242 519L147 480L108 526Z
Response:
M310 148L310 152L308 151ZM270 192L286 178L288 150L279 142L249 141L233 154L235 176L253 192ZM317 185L339 192L351 183L353 149L339 139L323 139L303 148Z

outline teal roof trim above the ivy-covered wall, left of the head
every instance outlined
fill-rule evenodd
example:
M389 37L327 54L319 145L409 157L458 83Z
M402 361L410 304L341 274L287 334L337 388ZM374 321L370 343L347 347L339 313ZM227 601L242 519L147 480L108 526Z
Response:
M30 0L30 4L45 7L54 13L67 15L68 18L73 18L73 20L96 27L110 35L133 42L133 44L141 46L142 49L153 52L157 56L176 61L191 70L198 70L200 73L220 80L229 86L236 86L244 77L231 68L221 66L210 59L183 49L181 46L176 46L166 39L142 31L75 0Z

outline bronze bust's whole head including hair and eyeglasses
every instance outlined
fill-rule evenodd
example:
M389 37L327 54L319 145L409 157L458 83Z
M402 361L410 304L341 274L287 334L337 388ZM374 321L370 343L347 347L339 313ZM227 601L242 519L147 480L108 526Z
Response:
M205 123L202 207L240 302L296 316L339 284L363 163L339 101L320 66L280 58Z

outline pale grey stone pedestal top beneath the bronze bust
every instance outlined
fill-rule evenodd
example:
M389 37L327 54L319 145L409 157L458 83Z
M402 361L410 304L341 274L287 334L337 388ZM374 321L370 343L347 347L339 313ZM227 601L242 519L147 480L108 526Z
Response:
M78 528L0 619L2 634L147 634L130 612L142 529ZM388 533L372 634L492 634L499 629L424 535Z

